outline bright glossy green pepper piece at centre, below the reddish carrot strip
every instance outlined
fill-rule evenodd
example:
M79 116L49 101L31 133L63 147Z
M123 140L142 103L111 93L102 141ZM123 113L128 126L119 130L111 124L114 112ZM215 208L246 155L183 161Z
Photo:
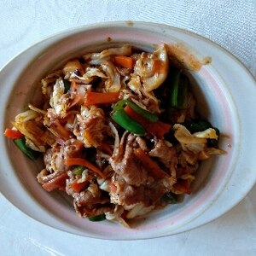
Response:
M124 108L119 108L111 114L112 119L123 127L127 131L131 131L137 135L144 135L145 129L143 125L140 125L133 119L131 119L127 113L125 113Z

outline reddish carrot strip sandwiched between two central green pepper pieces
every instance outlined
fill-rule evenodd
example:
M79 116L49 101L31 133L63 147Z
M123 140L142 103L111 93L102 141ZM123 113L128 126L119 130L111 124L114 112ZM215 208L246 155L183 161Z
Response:
M125 106L125 113L127 113L131 119L134 119L148 131L148 133L156 136L156 137L163 137L168 131L170 131L172 125L157 121L157 122L149 122L148 119L145 119L142 115L137 113L128 105Z

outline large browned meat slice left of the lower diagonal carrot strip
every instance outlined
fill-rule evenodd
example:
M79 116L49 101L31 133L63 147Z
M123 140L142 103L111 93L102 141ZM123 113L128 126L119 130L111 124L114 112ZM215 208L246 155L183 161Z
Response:
M133 153L134 148L137 147L136 136L126 135L127 133L122 137L117 153L109 159L113 171L131 185L152 183L153 177L148 176L147 168L137 160Z

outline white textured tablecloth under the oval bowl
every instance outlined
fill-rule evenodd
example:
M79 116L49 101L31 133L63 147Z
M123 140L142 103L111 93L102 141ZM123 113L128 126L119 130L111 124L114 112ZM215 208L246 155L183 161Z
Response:
M67 28L144 20L210 38L256 76L255 0L1 0L0 10L0 66L31 44ZM256 187L223 217L183 234L145 241L100 241L40 224L0 194L0 255L256 255L255 195Z

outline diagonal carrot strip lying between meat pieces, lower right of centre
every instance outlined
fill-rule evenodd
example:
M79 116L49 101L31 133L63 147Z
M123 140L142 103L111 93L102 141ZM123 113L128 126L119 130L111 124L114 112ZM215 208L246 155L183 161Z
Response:
M144 166L148 167L148 172L150 172L154 178L160 179L166 177L166 172L160 169L160 166L158 166L158 164L154 162L154 160L152 160L150 156L143 151L142 148L136 148L134 150L134 154L143 163Z

